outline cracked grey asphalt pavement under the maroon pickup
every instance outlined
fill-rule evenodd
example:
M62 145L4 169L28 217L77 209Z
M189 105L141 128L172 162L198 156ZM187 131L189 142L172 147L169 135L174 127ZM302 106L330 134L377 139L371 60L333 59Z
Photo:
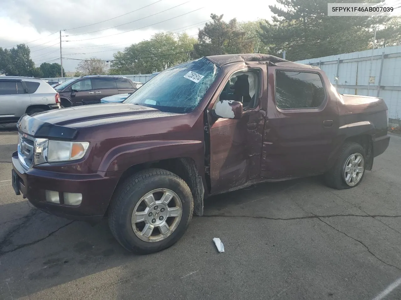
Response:
M215 196L181 240L145 256L107 222L51 216L16 196L16 141L0 132L0 300L401 299L399 136L356 188L314 177Z

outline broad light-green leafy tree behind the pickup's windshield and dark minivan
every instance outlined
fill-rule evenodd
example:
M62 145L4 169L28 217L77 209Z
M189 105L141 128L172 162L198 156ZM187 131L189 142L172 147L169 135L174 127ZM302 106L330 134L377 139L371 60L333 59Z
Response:
M150 74L170 66L187 62L192 57L196 39L188 34L159 32L114 54L110 73Z

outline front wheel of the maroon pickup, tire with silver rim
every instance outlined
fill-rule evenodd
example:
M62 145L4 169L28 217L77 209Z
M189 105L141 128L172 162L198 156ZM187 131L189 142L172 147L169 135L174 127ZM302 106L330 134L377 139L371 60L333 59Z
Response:
M145 201L144 197L150 193L153 193L153 200L152 197L149 197L147 199L150 200ZM159 196L165 197L164 199L172 196L168 206L160 203L162 198L158 198ZM156 202L148 204L154 200ZM164 250L175 244L188 228L194 209L193 202L190 188L176 174L162 169L138 172L117 186L113 194L109 210L111 233L124 248L135 254L150 254ZM178 210L176 210L177 208ZM178 219L180 209L181 213ZM170 210L174 210L174 212ZM150 216L151 212L154 215ZM168 217L168 214L177 216ZM162 220L164 221L161 221L160 218L163 216ZM144 218L144 222L133 223L132 218L134 217ZM153 225L154 221L156 222ZM159 223L160 226L157 225ZM163 224L167 224L168 227ZM151 226L154 226L152 235L147 236ZM145 228L148 228L149 231ZM166 228L170 231L166 231ZM164 235L163 231L167 233Z

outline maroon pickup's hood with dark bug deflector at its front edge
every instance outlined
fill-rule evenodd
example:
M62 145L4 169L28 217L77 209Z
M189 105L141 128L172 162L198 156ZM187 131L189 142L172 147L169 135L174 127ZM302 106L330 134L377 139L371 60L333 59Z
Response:
M73 139L79 128L107 122L176 115L156 108L125 103L93 104L24 115L17 128L35 137Z

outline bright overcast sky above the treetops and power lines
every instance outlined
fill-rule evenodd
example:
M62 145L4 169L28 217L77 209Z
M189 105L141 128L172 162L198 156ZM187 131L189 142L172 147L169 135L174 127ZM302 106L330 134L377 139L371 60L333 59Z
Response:
M231 18L237 18L238 21L271 19L268 5L275 4L275 0L237 2L243 4L234 4L233 0L0 0L0 2L0 28L2 28L0 47L10 48L16 44L26 43L31 49L31 57L36 66L57 58L58 60L54 62L60 62L58 30L67 29L62 31L62 40L69 41L62 43L63 57L86 59L96 56L112 59L113 53L117 50L146 40L158 31L185 30L189 35L196 36L197 28L203 27L211 13L224 14L226 21ZM166 11L163 12L164 10ZM122 14L126 15L120 16ZM155 15L151 16L152 14ZM105 21L110 18L113 19ZM173 19L168 20L170 18ZM98 22L99 24L93 24ZM117 27L110 28L114 26ZM99 31L94 32L97 30ZM131 31L124 33L129 30ZM63 59L65 71L75 71L78 62L78 60Z

